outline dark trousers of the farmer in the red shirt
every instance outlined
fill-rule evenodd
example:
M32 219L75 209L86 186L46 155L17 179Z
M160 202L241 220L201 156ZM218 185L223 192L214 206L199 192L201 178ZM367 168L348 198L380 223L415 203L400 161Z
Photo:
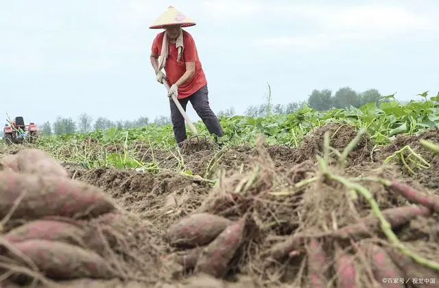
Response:
M186 106L188 101L191 101L192 107L197 112L198 116L200 116L201 120L206 125L207 130L211 134L215 134L217 137L221 137L224 135L222 131L222 127L219 124L219 120L217 116L213 113L211 107L209 106L209 90L207 90L207 85L203 86L197 92L193 93L191 96L188 96L183 99L178 99L183 109L186 111ZM174 135L176 138L176 142L180 144L180 142L184 141L187 138L186 135L186 126L185 126L185 118L183 118L180 110L178 110L176 103L174 100L169 98L169 105L171 106L171 121L172 126L174 128Z

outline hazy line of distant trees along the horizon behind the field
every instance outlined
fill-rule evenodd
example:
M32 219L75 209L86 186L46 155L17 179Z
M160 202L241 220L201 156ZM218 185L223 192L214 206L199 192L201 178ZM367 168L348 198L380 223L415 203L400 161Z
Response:
M296 112L303 103L307 103L313 109L318 111L326 111L332 108L348 108L361 107L369 102L377 103L381 98L381 94L377 89L369 89L364 92L356 92L352 88L344 87L333 93L329 89L313 90L309 94L307 101L292 101L285 105L272 104L272 95L268 93L268 101L261 105L250 105L244 112L245 116L263 117L270 114L290 114ZM235 116L235 108L231 107L226 110L217 112L217 116ZM108 129L115 127L117 129L128 129L132 127L144 127L145 125L154 124L157 126L169 125L171 118L168 116L158 116L152 122L149 118L141 117L137 120L119 120L113 121L106 117L98 117L93 120L93 117L88 114L81 114L77 120L73 118L62 118L58 116L56 120L51 123L49 121L40 125L40 129L45 135L62 135L75 132L87 132L93 130Z

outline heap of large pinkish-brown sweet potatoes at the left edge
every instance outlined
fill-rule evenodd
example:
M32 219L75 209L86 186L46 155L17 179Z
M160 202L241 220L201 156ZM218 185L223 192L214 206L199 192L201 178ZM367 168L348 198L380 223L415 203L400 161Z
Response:
M37 149L0 159L0 267L14 283L29 280L115 278L97 218L118 215L115 203L92 185L69 179Z

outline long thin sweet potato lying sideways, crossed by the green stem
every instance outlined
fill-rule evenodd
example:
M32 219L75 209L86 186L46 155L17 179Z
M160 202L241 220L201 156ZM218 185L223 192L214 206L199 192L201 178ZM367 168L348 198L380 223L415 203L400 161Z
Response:
M405 206L385 209L382 211L384 218L389 222L392 228L397 228L404 224L407 224L412 219L418 216L429 216L431 210L423 206ZM355 224L344 226L336 231L330 231L328 233L322 233L320 235L292 235L285 241L275 244L271 248L272 258L276 260L287 257L289 252L297 249L304 243L306 239L310 237L328 237L337 239L348 239L350 237L362 237L364 235L370 235L381 229L379 219L375 215L368 215Z

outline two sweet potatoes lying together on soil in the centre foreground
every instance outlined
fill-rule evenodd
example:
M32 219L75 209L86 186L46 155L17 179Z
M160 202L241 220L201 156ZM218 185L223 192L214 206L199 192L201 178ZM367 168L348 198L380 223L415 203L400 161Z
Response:
M165 261L174 261L182 271L222 278L239 254L254 228L249 215L237 221L210 213L193 213L171 225L165 233L167 243L175 248Z

